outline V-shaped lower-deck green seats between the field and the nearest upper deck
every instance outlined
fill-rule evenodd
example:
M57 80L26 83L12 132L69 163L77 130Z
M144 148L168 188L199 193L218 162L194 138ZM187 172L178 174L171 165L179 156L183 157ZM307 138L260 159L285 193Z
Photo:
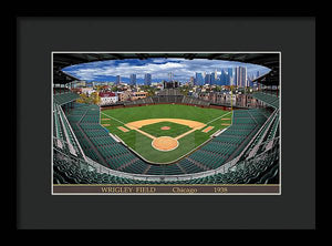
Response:
M267 122L267 115L269 114L270 112L266 109L235 111L234 124L224 131L222 134L214 137L206 145L169 166L152 165L136 156L122 143L116 142L100 124L100 109L96 105L75 103L74 107L66 113L66 119L79 140L79 144L76 143L75 146L82 146L80 148L94 162L113 171L128 174L162 175L165 177L165 175L204 173L205 171L222 166L245 150L246 144L252 140L253 135ZM58 122L55 119L54 122ZM58 123L54 125L56 126ZM271 127L274 125L276 123ZM276 135L268 133L271 127L266 127L264 125L264 135L269 136L269 139L274 139ZM69 127L66 129L70 130ZM55 131L54 134L59 135L59 132ZM276 131L272 132L276 133ZM69 146L73 145L70 141L68 142ZM258 142L258 144L260 143L261 141Z

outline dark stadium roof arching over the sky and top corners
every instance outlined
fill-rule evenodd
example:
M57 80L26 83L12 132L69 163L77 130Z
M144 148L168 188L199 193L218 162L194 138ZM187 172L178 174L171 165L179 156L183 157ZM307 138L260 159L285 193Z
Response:
M279 84L279 53L53 53L53 82L65 84L73 80L77 80L69 74L64 74L61 70L69 65L106 61L106 60L124 60L124 59L154 59L154 58L181 58L181 59L208 59L225 60L252 63L263 65L271 69L269 75L257 79L258 82L267 85Z

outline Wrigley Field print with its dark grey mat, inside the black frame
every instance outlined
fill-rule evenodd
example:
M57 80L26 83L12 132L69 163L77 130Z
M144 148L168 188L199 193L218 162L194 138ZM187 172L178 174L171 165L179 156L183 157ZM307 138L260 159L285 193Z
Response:
M14 17L17 228L315 228L315 18L113 13Z

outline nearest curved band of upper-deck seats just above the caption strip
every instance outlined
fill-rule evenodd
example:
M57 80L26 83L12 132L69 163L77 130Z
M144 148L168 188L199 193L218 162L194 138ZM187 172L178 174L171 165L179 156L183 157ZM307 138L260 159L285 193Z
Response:
M155 168L151 167L151 168ZM172 167L174 168L174 167ZM166 168L165 168L166 171ZM166 173L164 171L164 173ZM219 173L186 181L138 181L97 173L84 161L53 155L54 184L278 184L279 145L250 161L237 164L228 173Z

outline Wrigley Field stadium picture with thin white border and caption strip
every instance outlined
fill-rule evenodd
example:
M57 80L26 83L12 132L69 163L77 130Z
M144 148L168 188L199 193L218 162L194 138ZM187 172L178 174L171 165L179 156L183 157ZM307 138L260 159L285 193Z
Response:
M281 194L280 52L51 59L53 195Z

